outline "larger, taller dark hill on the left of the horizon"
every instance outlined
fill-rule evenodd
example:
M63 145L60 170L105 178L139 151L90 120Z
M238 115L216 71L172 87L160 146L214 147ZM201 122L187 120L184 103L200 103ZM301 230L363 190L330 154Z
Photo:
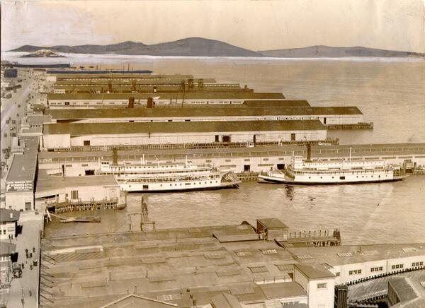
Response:
M72 54L126 54L174 57L263 57L259 52L236 47L217 40L201 37L190 37L174 42L156 45L145 45L137 42L122 42L113 45L79 45L39 47L25 45L12 52L35 52L40 49L51 49L57 52Z

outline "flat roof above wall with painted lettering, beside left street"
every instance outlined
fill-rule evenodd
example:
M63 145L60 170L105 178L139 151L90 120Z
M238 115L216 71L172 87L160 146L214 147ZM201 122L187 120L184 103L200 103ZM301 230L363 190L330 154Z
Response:
M13 155L12 164L6 177L8 182L33 182L37 170L37 152Z

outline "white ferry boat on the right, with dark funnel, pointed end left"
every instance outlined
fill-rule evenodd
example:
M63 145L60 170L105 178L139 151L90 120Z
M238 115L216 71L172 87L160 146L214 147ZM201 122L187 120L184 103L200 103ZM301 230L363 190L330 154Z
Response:
M308 156L308 155L307 155ZM401 167L385 160L310 161L294 156L283 170L270 170L259 174L260 183L286 184L354 184L368 182L393 182L404 179Z

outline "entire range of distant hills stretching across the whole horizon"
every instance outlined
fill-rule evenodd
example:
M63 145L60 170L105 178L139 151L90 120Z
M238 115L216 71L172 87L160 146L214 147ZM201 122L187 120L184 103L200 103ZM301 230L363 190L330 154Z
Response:
M202 37L189 37L155 45L145 45L138 42L121 42L112 45L57 45L50 47L24 45L11 50L11 52L36 52L40 49L50 49L55 52L69 54L124 54L162 57L424 57L424 54L414 52L322 45L254 52L225 42L208 40Z

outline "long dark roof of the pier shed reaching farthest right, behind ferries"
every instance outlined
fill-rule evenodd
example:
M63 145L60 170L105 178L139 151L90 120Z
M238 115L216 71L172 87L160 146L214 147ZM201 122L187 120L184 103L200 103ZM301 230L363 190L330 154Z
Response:
M301 115L358 115L358 107L239 107L239 108L102 108L46 109L53 119L263 117ZM47 123L47 122L45 122Z

